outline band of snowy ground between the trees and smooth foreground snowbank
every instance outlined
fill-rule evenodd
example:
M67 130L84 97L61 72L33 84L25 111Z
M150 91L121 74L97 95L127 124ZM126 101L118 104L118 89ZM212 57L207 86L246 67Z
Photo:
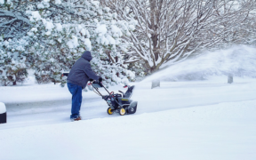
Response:
M133 92L132 100L138 101L136 114L229 101L256 100L256 83L251 81L241 81L235 84L213 81L163 82L160 88L153 90L150 89L150 83L135 85L136 88ZM110 88L109 91L117 92L120 89L122 90L122 86L115 86ZM12 102L7 96L13 90L16 91L16 94L13 95L16 98L12 96L12 99L14 99ZM9 90L5 88L6 94L1 92L2 95L0 96L6 97L8 124L1 126L0 129L34 124L59 124L70 121L68 117L71 109L71 94L68 92L68 88L44 85L41 88L40 86L36 88L36 95L33 93L34 91L33 87L20 87L19 89L9 88ZM28 98L27 100L21 99L19 97L20 94L28 97L34 96L34 99L30 101ZM107 103L97 94L83 92L83 97L81 116L83 116L84 120L111 117L106 112Z

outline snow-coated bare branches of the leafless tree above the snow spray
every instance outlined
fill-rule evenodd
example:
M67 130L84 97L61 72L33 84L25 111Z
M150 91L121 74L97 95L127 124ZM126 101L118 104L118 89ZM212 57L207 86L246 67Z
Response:
M244 33L249 32L241 28L255 8L252 0L108 0L105 5L119 19L137 20L130 39L136 53L132 55L146 61L151 71L167 61L185 60L202 47L231 39L245 42Z

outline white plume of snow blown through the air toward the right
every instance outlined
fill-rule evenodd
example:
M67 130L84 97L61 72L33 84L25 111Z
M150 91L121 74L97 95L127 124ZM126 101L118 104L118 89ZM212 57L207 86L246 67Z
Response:
M204 52L196 58L160 69L144 81L206 80L212 76L256 77L256 48L240 45L226 50Z

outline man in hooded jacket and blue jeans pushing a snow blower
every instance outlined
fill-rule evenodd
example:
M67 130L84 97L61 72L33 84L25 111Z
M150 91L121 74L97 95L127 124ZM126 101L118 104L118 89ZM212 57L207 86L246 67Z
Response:
M82 103L82 89L86 87L89 80L102 81L100 76L96 76L92 71L90 61L92 60L92 54L89 51L85 51L80 59L76 60L76 63L71 68L68 74L68 90L72 94L72 108L71 108L71 121L81 120L80 108Z

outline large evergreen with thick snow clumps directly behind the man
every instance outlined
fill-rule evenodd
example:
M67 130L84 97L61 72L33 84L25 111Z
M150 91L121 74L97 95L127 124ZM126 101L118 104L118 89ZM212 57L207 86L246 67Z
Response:
M92 68L106 84L125 83L127 78L134 78L123 60L129 45L123 36L130 36L133 28L129 21L116 20L116 13L110 13L109 8L101 7L98 1L25 2L26 6L17 6L26 8L23 13L31 28L20 38L27 40L20 46L24 48L26 59L23 60L28 63L27 68L36 70L39 83L65 82L61 72L68 71L86 50L92 52ZM1 43L9 41L3 39ZM10 48L14 46L9 45ZM5 54L8 55L2 47L1 56ZM6 56L2 57L4 60ZM27 64L25 61L23 64Z

